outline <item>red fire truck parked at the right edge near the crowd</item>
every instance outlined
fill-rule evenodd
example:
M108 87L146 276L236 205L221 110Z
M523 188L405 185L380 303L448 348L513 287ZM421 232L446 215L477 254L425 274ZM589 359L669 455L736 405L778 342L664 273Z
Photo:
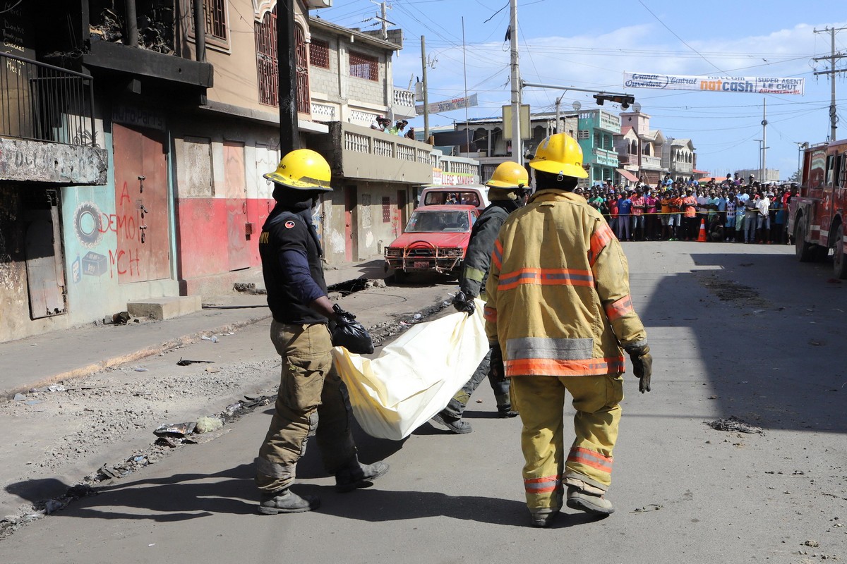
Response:
M825 260L833 249L836 278L847 278L847 140L812 145L803 153L800 189L789 203L789 233L800 262Z

